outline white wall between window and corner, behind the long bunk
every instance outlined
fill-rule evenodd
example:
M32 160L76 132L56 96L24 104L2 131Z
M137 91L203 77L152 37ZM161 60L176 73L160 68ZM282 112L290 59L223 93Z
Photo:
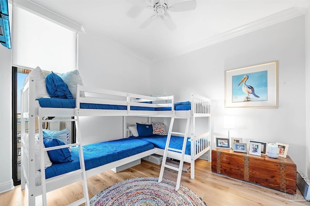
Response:
M78 35L78 70L85 86L150 94L149 64L89 30ZM82 118L81 133L89 136L82 143L122 137L122 121L122 117Z

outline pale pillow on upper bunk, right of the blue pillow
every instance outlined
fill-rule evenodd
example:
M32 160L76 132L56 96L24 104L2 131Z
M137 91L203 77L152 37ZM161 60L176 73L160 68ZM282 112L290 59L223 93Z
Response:
M78 70L74 70L71 72L67 72L64 74L58 74L62 80L64 81L64 83L67 84L69 90L71 91L73 98L76 99L77 98L77 85L82 85L83 86L83 82L82 82L82 78L78 73ZM80 97L85 97L85 93L83 91L80 91Z

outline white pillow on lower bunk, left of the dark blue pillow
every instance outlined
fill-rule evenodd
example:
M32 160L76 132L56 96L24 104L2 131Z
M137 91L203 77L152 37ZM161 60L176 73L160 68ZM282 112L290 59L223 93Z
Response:
M34 149L34 169L36 171L39 171L40 168L40 161L41 161L41 155L40 155L40 140L37 139L38 135L35 137L35 149ZM29 135L26 133L24 135L24 143L25 147L28 148L29 144ZM43 147L45 148L44 144ZM50 167L52 165L52 162L50 162L47 151L44 151L44 166L45 168Z

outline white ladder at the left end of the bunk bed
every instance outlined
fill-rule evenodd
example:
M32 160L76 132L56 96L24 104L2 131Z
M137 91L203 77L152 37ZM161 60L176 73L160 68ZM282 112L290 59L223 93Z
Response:
M78 113L76 113L78 114ZM65 147L78 147L78 152L79 152L79 162L80 162L80 169L75 170L73 172L64 174L59 177L54 177L49 179L45 179L45 166L44 166L44 158L41 158L41 185L42 185L42 200L43 200L43 206L47 206L47 183L53 182L56 178L70 178L70 176L79 174L81 175L81 181L83 185L83 193L84 197L81 199L69 204L69 206L78 206L81 204L85 204L86 206L90 205L89 202L89 195L88 195L88 189L87 189L87 181L86 181L86 172L85 172L85 162L84 162L84 155L83 155L83 148L82 144L80 142L80 131L79 131L79 118L76 116L75 118L67 118L67 119L43 119L43 117L39 117L39 125L42 125L43 122L59 122L59 121L75 121L76 122L76 130L77 130L77 143L74 144L67 144L67 145L62 145L62 146L56 146L56 147L47 147L44 148L43 141L40 141L40 152L41 152L41 157L44 157L44 151L49 151L49 150L54 150L54 149L60 149L60 148L65 148ZM43 139L43 128L39 127L40 130L40 140Z

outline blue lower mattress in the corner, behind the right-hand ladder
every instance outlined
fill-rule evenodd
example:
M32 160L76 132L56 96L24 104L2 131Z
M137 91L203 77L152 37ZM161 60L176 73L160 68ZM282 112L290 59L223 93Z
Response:
M145 136L145 137L130 136L130 138L148 141L152 143L155 147L160 148L160 149L165 149L166 141L167 141L167 135L153 135L153 136ZM184 140L183 137L171 135L169 147L182 150L183 140ZM190 138L187 137L186 149L185 149L185 154L187 155L190 155L190 141L189 140Z

